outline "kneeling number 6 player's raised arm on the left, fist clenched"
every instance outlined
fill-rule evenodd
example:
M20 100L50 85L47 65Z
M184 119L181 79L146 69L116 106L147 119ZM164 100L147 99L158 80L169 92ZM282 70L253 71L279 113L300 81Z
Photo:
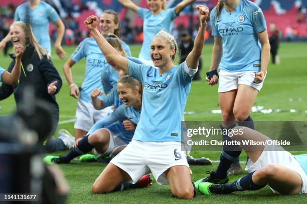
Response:
M117 53L116 49L110 45L102 34L97 29L98 18L95 15L91 15L84 21L87 29L91 32L94 39L96 40L100 50L104 54L106 60L109 63L114 63L121 70L129 73L128 69L128 59Z

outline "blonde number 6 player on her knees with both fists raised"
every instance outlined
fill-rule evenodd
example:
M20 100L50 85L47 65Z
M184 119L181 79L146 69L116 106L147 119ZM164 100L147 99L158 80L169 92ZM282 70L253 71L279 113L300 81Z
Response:
M174 65L178 51L174 36L160 31L152 39L150 55L158 69L122 57L99 33L98 18L91 15L85 20L106 59L144 85L142 111L132 141L102 171L93 184L93 192L111 192L120 183L136 182L151 170L159 184L170 184L174 196L191 199L196 194L181 150L181 119L174 118L182 118L204 45L209 9L199 5L197 12L200 27L185 62Z

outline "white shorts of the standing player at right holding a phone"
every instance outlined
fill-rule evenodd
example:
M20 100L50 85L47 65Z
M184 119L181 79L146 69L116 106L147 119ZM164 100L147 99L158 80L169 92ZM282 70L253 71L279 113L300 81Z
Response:
M230 72L224 69L220 69L218 92L227 92L230 90L238 89L239 84L245 84L260 91L263 86L264 80L261 83L255 83L254 78L256 76L256 73L256 71Z

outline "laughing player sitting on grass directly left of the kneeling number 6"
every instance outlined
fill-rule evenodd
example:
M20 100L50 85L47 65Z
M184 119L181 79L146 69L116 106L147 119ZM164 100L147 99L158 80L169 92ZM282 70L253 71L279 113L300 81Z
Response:
M118 81L117 92L124 104L119 105L105 119L97 121L88 134L76 140L74 148L64 156L46 156L44 161L50 164L69 163L73 158L91 151L94 147L102 156L110 155L111 157L122 150L131 141L135 124L139 121L142 95L141 84L135 78L128 75L123 76ZM107 96L115 98L112 94ZM126 129L118 131L122 128L119 128L116 122L124 119L129 119L132 123L123 127Z

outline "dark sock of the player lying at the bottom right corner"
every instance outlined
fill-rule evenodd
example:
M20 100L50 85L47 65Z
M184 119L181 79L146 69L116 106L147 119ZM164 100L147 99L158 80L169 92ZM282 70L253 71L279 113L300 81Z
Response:
M253 182L252 176L254 172L255 171L248 173L247 175L239 178L233 183L226 183L225 188L227 192L243 191L243 190L259 190L260 188L263 188L266 184L257 185Z

